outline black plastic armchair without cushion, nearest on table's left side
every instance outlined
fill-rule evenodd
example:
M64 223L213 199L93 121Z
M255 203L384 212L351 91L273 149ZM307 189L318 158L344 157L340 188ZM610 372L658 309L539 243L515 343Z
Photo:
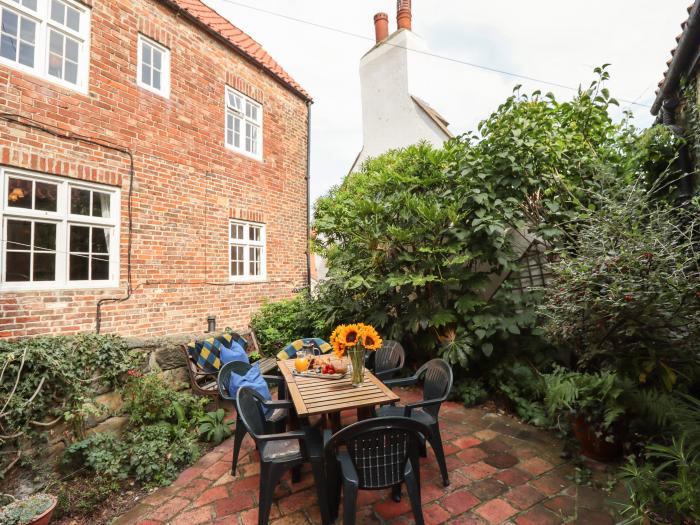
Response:
M267 525L275 487L290 469L310 462L316 484L323 525L330 524L326 480L323 476L323 443L318 431L306 427L283 433L268 433L263 410L285 407L292 401L265 401L252 388L243 387L236 394L238 414L260 452L260 496L258 525Z

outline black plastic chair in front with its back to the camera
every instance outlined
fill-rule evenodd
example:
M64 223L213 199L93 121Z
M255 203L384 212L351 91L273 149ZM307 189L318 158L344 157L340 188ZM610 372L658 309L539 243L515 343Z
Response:
M331 519L338 516L343 491L343 524L354 525L358 490L392 488L395 500L401 484L411 500L416 524L422 525L420 498L421 438L430 429L407 417L385 417L354 423L327 439L324 447Z

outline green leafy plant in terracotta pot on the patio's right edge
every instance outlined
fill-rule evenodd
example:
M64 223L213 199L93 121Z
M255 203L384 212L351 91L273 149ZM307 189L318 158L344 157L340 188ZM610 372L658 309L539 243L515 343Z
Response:
M616 373L556 367L543 379L547 411L560 426L571 425L583 455L611 461L622 454L627 386Z

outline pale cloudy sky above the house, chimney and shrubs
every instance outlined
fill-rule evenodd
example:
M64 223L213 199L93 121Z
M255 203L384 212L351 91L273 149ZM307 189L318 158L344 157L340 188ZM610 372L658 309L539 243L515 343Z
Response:
M256 39L314 99L311 125L311 198L339 184L362 148L361 56L374 44L373 16L395 0L204 0ZM650 106L675 36L691 0L413 0L413 31L431 53L576 88L593 69L610 63L614 97ZM268 12L263 12L268 11ZM275 16L276 13L282 16ZM292 17L307 23L290 20ZM318 26L362 35L359 38ZM425 62L425 61L424 61ZM508 97L573 92L540 82L430 59L434 79L424 98L462 133ZM622 102L637 126L648 127L648 107ZM621 117L616 112L615 118Z

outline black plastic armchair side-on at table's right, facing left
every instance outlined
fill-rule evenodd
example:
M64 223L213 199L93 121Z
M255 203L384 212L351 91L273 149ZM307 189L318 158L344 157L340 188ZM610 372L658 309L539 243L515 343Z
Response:
M404 406L384 406L377 413L380 417L404 416L420 421L428 426L430 433L426 435L430 446L433 447L442 474L442 483L445 487L450 484L445 462L445 451L442 448L442 436L440 436L440 424L438 413L442 402L452 390L452 368L443 359L432 359L421 366L415 375L404 379L390 379L384 382L388 387L415 385L423 381L423 400L416 403L408 403ZM425 454L425 449L423 449Z

